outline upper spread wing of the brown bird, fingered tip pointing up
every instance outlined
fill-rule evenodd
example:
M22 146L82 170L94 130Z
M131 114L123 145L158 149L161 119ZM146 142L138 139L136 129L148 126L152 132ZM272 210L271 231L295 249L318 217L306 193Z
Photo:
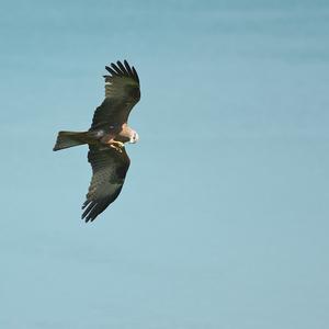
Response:
M134 105L140 99L139 78L126 60L105 66L105 99L95 110L90 129L122 125L127 122Z

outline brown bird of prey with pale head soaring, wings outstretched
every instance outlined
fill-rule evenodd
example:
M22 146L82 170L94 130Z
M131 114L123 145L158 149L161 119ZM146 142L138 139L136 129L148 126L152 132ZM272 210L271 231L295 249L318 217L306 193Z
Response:
M134 66L124 60L105 66L105 98L94 111L87 132L63 131L54 151L88 145L92 178L82 204L86 223L93 222L122 191L131 159L125 144L136 144L139 136L127 124L133 107L140 99L139 78Z

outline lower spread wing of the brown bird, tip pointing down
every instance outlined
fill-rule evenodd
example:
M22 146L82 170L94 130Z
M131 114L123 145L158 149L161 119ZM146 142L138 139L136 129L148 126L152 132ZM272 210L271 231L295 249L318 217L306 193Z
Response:
M125 148L118 152L113 148L89 146L88 161L92 167L92 179L82 205L86 223L94 220L118 196L131 164Z

